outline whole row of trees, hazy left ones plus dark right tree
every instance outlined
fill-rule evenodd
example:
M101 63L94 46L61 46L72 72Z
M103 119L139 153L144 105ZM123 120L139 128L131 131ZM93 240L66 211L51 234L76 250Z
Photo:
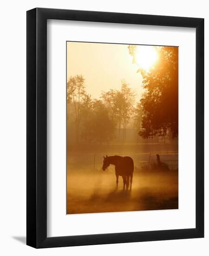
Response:
M137 46L130 45L134 56ZM67 103L74 122L76 142L109 143L115 138L126 141L127 125L132 124L142 138L178 135L178 48L158 47L159 61L149 71L138 69L145 89L137 99L130 85L122 80L120 90L101 92L92 99L85 88L83 75L67 81Z

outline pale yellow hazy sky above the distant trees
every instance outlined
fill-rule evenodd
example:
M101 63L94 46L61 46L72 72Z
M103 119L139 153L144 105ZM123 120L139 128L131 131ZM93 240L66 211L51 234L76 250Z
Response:
M67 42L67 80L70 76L82 74L86 92L93 99L99 99L102 91L120 89L123 79L140 98L142 76L137 69L132 63L128 45Z

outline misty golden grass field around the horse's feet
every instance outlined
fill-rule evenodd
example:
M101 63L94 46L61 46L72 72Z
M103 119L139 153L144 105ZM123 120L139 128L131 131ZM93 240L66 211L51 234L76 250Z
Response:
M123 190L122 177L116 189L114 166L102 171L101 151L78 152L71 155L68 151L67 156L67 214L178 208L178 168L148 169L149 154L135 154L132 189ZM155 154L152 156L150 166L155 161ZM165 154L162 156L165 159ZM167 156L168 163L177 164L176 154ZM139 162L144 164L143 168L139 168Z

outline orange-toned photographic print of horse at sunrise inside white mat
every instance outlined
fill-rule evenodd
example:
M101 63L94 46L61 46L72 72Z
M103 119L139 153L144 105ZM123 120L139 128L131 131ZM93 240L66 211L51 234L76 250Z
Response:
M178 47L66 42L66 213L178 209Z

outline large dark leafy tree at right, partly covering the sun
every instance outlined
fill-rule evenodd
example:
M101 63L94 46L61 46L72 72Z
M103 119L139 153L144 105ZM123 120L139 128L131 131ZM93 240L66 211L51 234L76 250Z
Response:
M134 57L137 46L129 46ZM170 130L178 135L178 47L156 47L158 61L149 71L138 69L143 77L142 129L139 135L165 136Z

